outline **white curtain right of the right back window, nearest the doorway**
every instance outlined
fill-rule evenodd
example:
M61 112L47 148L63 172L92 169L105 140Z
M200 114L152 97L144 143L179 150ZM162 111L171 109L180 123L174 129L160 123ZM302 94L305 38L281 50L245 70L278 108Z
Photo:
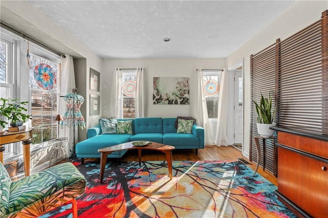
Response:
M216 126L215 144L217 146L228 146L227 136L228 124L228 72L224 69L220 77L220 93L218 117Z

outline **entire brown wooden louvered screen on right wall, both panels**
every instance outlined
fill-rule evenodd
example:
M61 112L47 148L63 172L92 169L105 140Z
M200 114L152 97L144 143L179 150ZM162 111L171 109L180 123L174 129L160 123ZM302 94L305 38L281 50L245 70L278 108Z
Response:
M268 97L269 90L277 106L277 125L328 134L328 10L309 27L251 55L251 100L258 101L261 92ZM251 161L256 160L256 122L251 102ZM267 168L274 172L272 140L267 149Z

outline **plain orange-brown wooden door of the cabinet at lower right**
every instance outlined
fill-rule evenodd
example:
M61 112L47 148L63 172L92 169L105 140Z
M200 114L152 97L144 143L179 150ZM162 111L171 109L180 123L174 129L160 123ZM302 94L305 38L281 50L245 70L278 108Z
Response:
M328 164L278 147L278 191L314 217L328 214Z

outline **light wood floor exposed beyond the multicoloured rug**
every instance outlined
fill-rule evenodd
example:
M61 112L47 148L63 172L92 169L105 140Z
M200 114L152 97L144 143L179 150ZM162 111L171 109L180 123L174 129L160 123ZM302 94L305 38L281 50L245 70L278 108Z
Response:
M244 160L249 161L248 158L241 155L241 151L232 147L232 146L221 146L217 147L215 145L206 145L204 149L198 149L198 155L195 155L195 149L177 149L172 151L173 161L213 161L213 160L235 160L238 158L243 158ZM85 162L88 162L91 159L86 158ZM100 161L100 159L98 159ZM154 150L143 150L142 161L165 161L166 157L162 152ZM107 161L111 161L108 159ZM113 160L112 160L113 161ZM120 161L138 161L137 150L128 150L126 154L120 159ZM253 170L256 168L256 164L250 162L251 165L247 165ZM278 185L277 178L273 176L271 172L263 171L263 168L259 166L257 173L273 183Z

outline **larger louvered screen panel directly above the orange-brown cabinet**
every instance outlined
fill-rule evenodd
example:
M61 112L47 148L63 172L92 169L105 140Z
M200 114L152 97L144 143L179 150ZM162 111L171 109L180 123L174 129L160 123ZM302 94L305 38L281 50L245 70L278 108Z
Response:
M320 20L280 42L278 123L321 130Z

